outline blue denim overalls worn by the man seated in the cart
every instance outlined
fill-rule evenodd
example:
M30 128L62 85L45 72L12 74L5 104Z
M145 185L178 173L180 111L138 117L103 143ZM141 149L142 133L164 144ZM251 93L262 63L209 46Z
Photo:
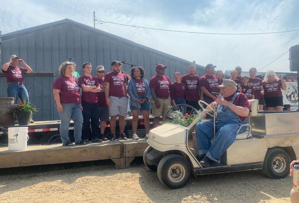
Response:
M233 103L239 93L235 93L230 103ZM221 97L223 98L223 97ZM196 125L196 137L199 146L199 154L206 154L212 161L220 163L221 155L236 140L237 131L241 125L247 124L247 119L241 121L239 116L228 106L218 105L217 117L215 119L216 136L214 137L214 121L205 120ZM243 133L247 126L244 126L239 133Z

